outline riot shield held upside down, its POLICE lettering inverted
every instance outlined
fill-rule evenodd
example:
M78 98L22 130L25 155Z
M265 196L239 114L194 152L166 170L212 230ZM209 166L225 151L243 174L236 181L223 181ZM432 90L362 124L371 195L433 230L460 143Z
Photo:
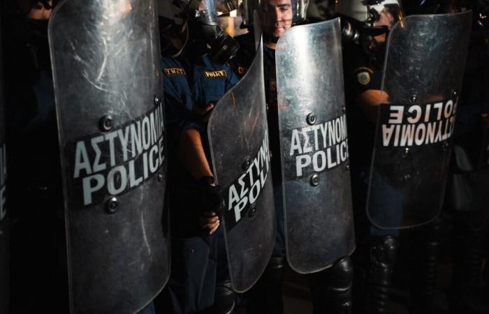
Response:
M377 227L422 225L441 210L471 14L412 15L389 34L367 196Z

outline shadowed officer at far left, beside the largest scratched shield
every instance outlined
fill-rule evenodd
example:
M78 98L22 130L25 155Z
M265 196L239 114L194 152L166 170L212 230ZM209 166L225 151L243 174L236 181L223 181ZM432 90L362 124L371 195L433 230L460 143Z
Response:
M48 47L52 1L3 1L13 227L11 310L67 311L59 149ZM42 256L42 258L41 258Z

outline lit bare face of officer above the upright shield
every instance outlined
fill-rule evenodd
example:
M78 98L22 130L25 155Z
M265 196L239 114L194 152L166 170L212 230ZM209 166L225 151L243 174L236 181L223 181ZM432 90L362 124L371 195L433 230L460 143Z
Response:
M265 0L260 13L265 35L278 38L292 26L291 0Z

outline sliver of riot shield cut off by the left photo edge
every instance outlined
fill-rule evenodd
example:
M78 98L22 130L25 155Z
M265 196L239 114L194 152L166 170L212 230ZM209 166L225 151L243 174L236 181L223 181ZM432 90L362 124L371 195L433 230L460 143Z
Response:
M0 48L1 47L0 38ZM3 98L3 73L1 60L0 53L0 313L8 313L8 234L10 233L10 228L8 225L6 204L7 160L5 145L5 102Z

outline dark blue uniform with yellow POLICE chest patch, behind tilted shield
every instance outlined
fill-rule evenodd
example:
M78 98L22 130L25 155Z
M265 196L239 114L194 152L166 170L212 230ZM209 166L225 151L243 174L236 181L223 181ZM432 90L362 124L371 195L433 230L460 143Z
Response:
M180 164L175 149L185 130L200 130L206 149L205 124L194 107L217 101L238 82L231 68L209 57L163 57L163 89L168 130L168 206L172 235L172 269L163 292L168 313L196 313L214 303L217 282L228 277L221 227L212 235L198 223L198 182ZM230 121L231 123L231 121ZM206 150L207 160L210 155ZM170 312L171 311L171 312ZM166 312L164 312L166 313Z

